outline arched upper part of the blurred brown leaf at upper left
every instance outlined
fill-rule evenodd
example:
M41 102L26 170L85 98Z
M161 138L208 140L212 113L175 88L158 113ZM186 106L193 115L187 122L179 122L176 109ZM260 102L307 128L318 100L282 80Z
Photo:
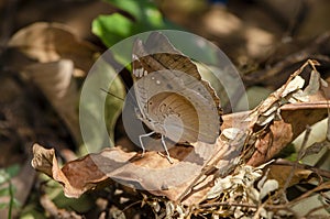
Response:
M78 39L61 23L36 22L16 32L8 43L40 63L72 59L75 67L88 73L98 48Z

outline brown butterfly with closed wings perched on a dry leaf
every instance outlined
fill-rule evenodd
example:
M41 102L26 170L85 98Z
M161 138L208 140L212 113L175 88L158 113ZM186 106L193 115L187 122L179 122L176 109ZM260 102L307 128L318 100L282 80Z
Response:
M220 100L208 81L201 79L191 59L168 39L153 32L133 45L133 78L140 119L158 133L172 162L165 138L177 143L215 143L222 123Z

